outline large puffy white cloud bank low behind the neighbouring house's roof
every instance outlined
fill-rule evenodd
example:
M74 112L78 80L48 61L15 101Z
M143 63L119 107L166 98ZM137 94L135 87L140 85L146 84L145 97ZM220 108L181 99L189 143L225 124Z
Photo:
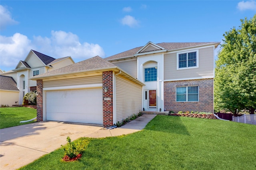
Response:
M52 31L51 37L27 36L16 33L11 37L0 36L0 64L14 69L18 61L24 60L30 49L54 58L71 56L74 60L84 60L96 55L104 58L102 47L94 43L80 43L76 34L64 31Z

